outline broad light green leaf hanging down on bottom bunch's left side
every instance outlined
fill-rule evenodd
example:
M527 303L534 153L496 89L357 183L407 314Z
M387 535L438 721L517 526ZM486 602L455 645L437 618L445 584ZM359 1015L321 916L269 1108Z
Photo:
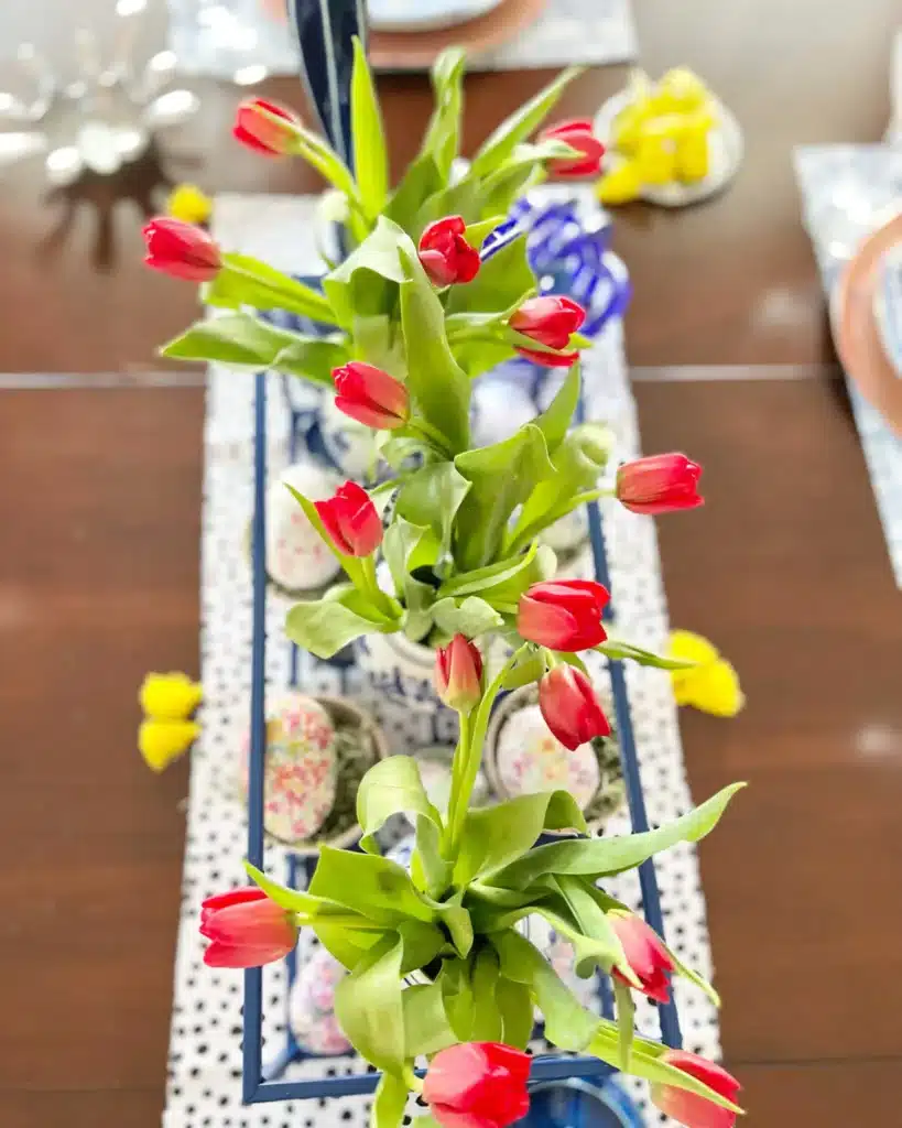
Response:
M404 1068L404 944L388 935L335 988L335 1016L357 1052L387 1073Z

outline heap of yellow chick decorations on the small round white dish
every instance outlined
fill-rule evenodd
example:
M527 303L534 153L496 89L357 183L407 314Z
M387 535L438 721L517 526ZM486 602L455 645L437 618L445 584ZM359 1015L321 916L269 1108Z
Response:
M710 170L709 135L717 125L717 102L689 69L667 71L657 83L634 74L627 103L611 124L599 201L628 203L645 187L704 180Z

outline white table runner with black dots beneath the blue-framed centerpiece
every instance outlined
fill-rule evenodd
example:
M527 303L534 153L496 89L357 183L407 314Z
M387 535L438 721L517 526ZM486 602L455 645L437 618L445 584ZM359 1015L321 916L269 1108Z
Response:
M591 201L591 196L586 196ZM586 204L589 205L589 204ZM315 273L312 199L226 196L216 202L215 235L229 249L259 255L283 270ZM617 457L638 453L636 411L624 358L622 328L609 325L586 360L586 379L594 388L592 414L604 417L617 434ZM280 384L271 378L268 433L269 473L284 466L288 420ZM204 942L197 932L201 901L244 880L241 860L247 839L246 812L236 797L238 749L249 719L250 571L246 535L253 503L253 379L213 367L207 391L205 483L202 541L202 668L205 706L203 735L192 754L182 919L175 972L175 999L169 1054L165 1128L365 1128L368 1100L297 1101L242 1108L241 994L238 971L206 968ZM660 645L667 633L654 522L614 505L605 513L618 622L642 644ZM591 572L589 556L575 570ZM289 603L272 596L267 606L267 685L289 684L290 647L282 627ZM335 671L301 655L300 685L312 693L335 693ZM651 822L679 817L690 807L675 707L667 676L629 666L628 682ZM603 670L599 671L603 677ZM383 722L397 751L417 743L417 716L388 713L377 699L363 702ZM699 799L707 796L698 796ZM626 813L607 823L607 832L628 830ZM285 878L284 848L269 844L267 871ZM688 844L662 855L657 866L665 928L680 958L710 973L705 900L695 849ZM611 892L639 908L635 874L611 882ZM301 958L303 957L303 946ZM717 1015L700 992L684 980L675 984L688 1049L718 1054ZM283 964L264 970L264 1060L284 1045L286 977ZM638 1002L637 1028L657 1032L657 1012ZM289 1076L360 1073L357 1059L318 1059L292 1066ZM646 1102L643 1083L627 1082L644 1107L646 1123L669 1121Z

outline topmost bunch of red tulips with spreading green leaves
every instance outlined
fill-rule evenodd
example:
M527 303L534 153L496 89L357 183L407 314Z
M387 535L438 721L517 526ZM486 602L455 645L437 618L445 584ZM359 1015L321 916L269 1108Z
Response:
M515 352L551 367L572 363L575 353L569 345L582 312L566 299L533 297L536 279L522 239L513 248L499 249L490 263L488 245L481 255L480 249L506 219L513 201L549 173L598 173L603 147L587 122L566 122L529 141L578 71L564 71L499 125L460 171L463 64L458 50L436 61L435 109L418 156L393 191L380 107L359 43L351 91L353 171L291 111L262 98L242 103L236 138L255 152L300 156L311 164L331 185L324 197L325 212L341 224L343 249L352 254L337 265L324 252L331 272L321 287L309 285L248 255L223 250L198 227L169 218L151 220L144 232L148 265L203 283L203 301L222 314L197 321L163 354L267 368L329 390L334 370L351 361L403 374L396 299L397 283L408 271L398 261L398 235L404 233L405 254L416 257L418 250L430 281L456 285L443 306L451 318L449 347L466 376L478 376ZM357 255L364 244L366 252ZM371 276L373 270L377 277ZM365 301L359 297L361 287L368 292ZM271 325L266 314L276 309L303 318L311 332ZM418 317L419 311L409 310L408 316ZM393 403L389 395L390 409ZM377 402L377 408L384 406ZM375 423L363 407L356 417L368 425L384 425L381 409Z

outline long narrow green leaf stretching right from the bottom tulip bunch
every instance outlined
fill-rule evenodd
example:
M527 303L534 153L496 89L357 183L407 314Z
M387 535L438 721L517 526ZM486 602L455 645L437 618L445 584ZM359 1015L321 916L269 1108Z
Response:
M700 807L656 830L538 846L524 857L495 872L488 881L496 885L521 889L548 873L596 879L634 870L676 843L696 843L704 838L717 826L733 795L744 786L744 783L735 783L724 787Z

